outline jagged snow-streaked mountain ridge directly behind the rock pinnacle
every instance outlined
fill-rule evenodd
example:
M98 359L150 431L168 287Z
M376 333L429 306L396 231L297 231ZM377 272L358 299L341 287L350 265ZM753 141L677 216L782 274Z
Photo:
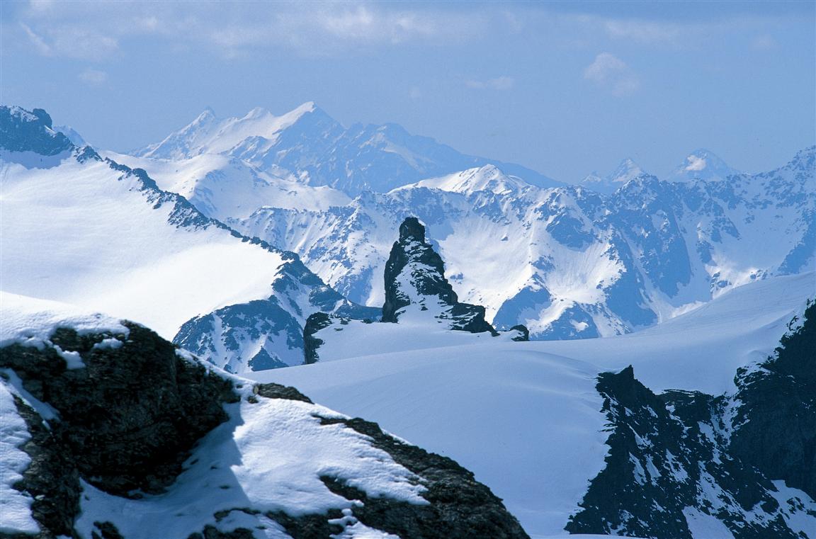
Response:
M437 238L456 293L484 305L496 329L523 324L533 338L598 337L814 267L814 152L728 182L641 175L611 195L519 188L494 167L472 169L325 211L267 207L228 223L297 250L343 294L376 305L388 231L416 215Z

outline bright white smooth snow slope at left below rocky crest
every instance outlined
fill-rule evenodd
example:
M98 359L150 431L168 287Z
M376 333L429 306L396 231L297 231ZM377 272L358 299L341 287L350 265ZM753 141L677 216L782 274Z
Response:
M73 157L51 168L0 160L0 289L137 320L172 338L185 321L267 298L280 254L223 228L180 228L173 204L132 176Z

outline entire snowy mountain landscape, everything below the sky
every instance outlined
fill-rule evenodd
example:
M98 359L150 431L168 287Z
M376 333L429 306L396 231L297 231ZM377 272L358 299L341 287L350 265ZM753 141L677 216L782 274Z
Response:
M0 536L816 529L816 147L605 190L313 104L194 124L0 107Z

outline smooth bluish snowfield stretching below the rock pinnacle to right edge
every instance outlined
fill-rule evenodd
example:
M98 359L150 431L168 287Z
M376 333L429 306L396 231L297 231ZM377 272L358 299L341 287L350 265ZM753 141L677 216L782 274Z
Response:
M318 353L337 360L252 377L298 387L454 458L502 497L528 532L558 535L604 466L598 373L632 364L654 391L730 391L736 368L774 350L814 285L813 272L776 277L641 334L584 341L496 342L427 327L419 333L419 326L349 324L336 338L318 335L326 338ZM416 344L446 335L455 345ZM355 341L360 357L339 360Z

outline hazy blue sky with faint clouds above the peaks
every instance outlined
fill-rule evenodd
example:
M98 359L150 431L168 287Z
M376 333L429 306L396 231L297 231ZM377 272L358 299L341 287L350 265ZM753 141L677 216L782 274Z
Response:
M306 101L565 182L816 143L816 2L0 2L0 102L98 148Z

